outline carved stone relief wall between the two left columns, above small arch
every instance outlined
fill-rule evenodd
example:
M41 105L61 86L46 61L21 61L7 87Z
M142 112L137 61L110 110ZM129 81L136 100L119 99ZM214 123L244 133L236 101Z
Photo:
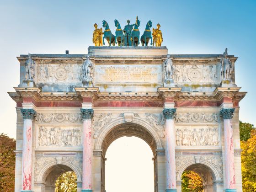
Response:
M80 147L82 123L80 113L37 113L38 148L48 146Z

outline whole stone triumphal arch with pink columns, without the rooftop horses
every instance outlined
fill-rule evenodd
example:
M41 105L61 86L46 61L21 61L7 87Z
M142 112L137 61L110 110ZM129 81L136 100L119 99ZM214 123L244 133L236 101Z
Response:
M16 192L54 192L65 171L75 172L77 191L105 192L105 154L123 136L152 149L155 192L181 192L186 170L202 177L205 192L242 191L245 92L227 49L175 55L163 46L90 46L88 54L17 59L20 84L9 92L17 112Z

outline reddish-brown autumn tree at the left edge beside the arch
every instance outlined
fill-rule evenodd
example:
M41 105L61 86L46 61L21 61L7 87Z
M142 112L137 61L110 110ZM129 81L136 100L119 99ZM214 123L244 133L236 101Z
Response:
M15 180L16 141L0 134L0 191L13 192Z

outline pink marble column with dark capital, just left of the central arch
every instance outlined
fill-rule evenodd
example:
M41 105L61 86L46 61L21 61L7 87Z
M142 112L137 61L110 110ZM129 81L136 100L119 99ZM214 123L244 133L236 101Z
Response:
M83 119L83 178L82 192L92 192L91 187L91 159L92 159L92 142L91 142L91 119L93 109L81 109Z

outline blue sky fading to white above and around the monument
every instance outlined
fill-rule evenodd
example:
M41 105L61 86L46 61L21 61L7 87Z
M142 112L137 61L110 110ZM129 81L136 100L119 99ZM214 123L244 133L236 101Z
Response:
M240 102L240 120L256 124L255 0L1 0L0 2L0 132L16 138L15 102L6 93L19 83L16 56L27 53L87 53L94 23L114 20L121 26L136 16L143 30L159 22L163 46L171 54L223 53L239 57L236 84L248 94Z

